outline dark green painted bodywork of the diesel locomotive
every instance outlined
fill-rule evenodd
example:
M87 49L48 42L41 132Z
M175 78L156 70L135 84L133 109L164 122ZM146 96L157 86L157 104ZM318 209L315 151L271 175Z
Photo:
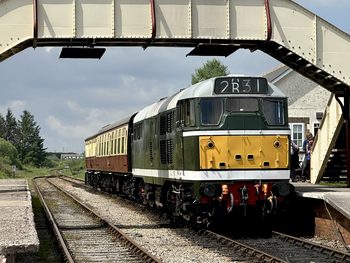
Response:
M181 137L182 132L187 131L208 131L208 130L289 130L287 117L285 117L285 125L283 126L268 126L266 120L259 107L258 112L225 112L218 126L201 126L199 100L195 99L195 127L184 127L181 131L179 106L176 109L167 111L173 112L173 127L170 133L160 135L160 119L162 114L158 114L149 119L141 121L141 139L133 140L133 168L134 169L152 169L152 170L200 170L200 147L197 136ZM287 99L283 98L285 105ZM287 107L284 109L285 116L288 116ZM137 124L137 123L135 123ZM135 125L134 124L134 125ZM135 131L134 131L135 137ZM172 164L161 164L160 141L172 139ZM183 153L182 142L183 140ZM151 163L151 142L153 164ZM167 151L168 154L168 151ZM183 165L182 166L182 156ZM157 176L157 175L155 175ZM154 183L163 185L165 181L172 181L172 178L159 178L142 176L146 183ZM179 181L179 180L176 180ZM195 182L191 180L180 180L184 182ZM196 182L201 183L201 182ZM198 186L199 187L199 186Z

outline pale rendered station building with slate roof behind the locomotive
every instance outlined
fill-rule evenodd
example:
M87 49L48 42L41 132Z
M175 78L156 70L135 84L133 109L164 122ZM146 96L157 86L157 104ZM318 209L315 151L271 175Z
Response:
M331 93L286 65L261 76L287 95L291 137L301 148L308 131L316 135Z

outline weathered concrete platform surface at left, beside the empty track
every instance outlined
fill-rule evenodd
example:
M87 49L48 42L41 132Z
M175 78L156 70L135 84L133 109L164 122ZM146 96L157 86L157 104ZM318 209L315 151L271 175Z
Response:
M0 255L38 248L27 179L0 180Z

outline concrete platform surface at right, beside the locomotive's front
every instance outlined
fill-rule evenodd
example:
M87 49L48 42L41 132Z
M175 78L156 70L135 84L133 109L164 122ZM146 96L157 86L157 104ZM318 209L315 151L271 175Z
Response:
M302 182L292 184L297 196L322 199L350 219L350 188Z

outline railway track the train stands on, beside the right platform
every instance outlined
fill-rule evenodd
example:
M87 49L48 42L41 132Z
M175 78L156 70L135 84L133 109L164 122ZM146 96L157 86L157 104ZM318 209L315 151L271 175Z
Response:
M62 178L64 179L64 178ZM94 193L100 191L85 186L83 180L65 177L65 180L69 180L74 184L79 184L80 187L84 187ZM105 196L116 198L115 196L100 192ZM135 204L133 204L135 205ZM268 239L249 239L249 240L233 240L230 237L225 237L218 233L214 233L208 230L198 230L196 226L193 226L194 232L190 234L186 233L188 240L194 243L201 244L203 247L213 248L215 250L220 249L213 246L210 241L217 241L218 244L228 247L229 251L222 250L222 255L239 260L236 252L241 252L245 262L252 260L258 260L258 262L350 262L350 254L344 251L339 251L330 247L326 247L320 244L302 240L293 236L284 235L279 232L273 232L273 237ZM183 229L175 229L178 234L183 234ZM186 232L186 231L185 231ZM198 238L199 232L202 237ZM204 238L203 238L204 236ZM210 245L209 245L210 244ZM248 261L247 261L248 260Z

